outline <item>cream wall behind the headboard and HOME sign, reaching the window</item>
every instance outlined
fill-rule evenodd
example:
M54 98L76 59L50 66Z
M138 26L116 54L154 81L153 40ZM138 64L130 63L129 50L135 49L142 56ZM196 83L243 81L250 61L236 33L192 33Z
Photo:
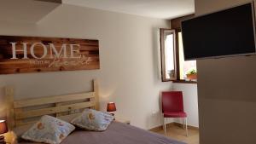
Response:
M160 113L152 116L159 112L160 91L172 88L158 76L157 30L168 26L168 20L71 5L61 5L37 25L2 21L1 35L99 39L101 69L1 75L0 87L13 85L15 99L23 99L90 90L90 80L98 78L102 110L115 101L118 116L153 128L160 125Z

